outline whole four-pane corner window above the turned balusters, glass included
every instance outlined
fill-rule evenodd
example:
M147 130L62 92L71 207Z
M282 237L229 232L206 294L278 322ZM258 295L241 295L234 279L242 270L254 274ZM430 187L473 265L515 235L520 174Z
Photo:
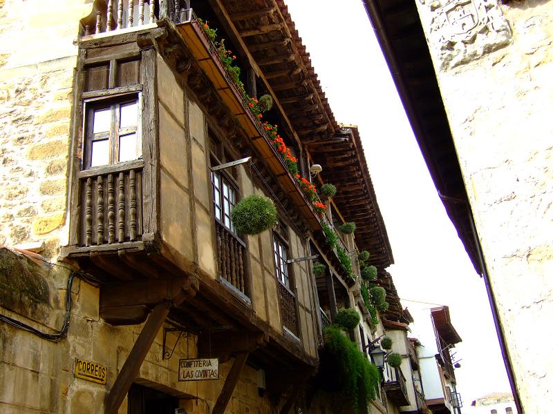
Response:
M88 103L84 168L117 164L142 156L139 97Z

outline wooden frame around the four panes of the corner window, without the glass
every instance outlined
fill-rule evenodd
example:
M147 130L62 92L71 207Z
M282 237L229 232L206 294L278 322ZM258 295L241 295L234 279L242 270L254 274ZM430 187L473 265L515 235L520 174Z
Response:
M136 103L136 124L134 126L120 126L120 113L122 106L129 103ZM127 92L111 95L109 97L93 97L83 100L83 139L82 139L82 162L81 170L92 170L115 166L129 161L142 159L142 93L140 91ZM97 110L109 109L109 130L93 132L94 114ZM120 138L126 135L135 134L136 158L124 161L115 161L119 158ZM108 162L92 166L93 142L109 142Z

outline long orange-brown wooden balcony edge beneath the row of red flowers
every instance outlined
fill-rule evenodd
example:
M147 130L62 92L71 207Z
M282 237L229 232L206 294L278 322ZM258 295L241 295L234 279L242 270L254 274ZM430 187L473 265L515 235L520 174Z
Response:
M212 81L214 87L221 95L221 99L238 119L245 130L252 146L263 159L274 177L277 177L280 186L296 206L301 216L306 220L312 230L320 230L321 222L309 201L299 187L296 179L288 171L288 167L279 153L270 143L270 139L263 129L261 121L250 111L247 101L241 90L234 84L223 62L218 55L215 45L209 40L203 28L194 14L194 11L184 10L180 12L180 23L177 23L178 32L191 50L192 55L198 60L200 68Z

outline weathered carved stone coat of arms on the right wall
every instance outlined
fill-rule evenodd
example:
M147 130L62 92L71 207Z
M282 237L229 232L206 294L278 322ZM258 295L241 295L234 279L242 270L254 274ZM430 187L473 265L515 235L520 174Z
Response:
M442 69L478 59L511 43L512 32L496 0L419 0L427 34Z

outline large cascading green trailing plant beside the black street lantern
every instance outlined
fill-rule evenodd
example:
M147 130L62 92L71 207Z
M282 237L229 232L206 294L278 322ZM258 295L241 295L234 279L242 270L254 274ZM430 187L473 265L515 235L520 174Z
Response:
M324 330L324 350L319 366L319 384L330 391L343 393L352 404L353 412L366 412L376 397L380 375L375 364L359 351L337 326Z

